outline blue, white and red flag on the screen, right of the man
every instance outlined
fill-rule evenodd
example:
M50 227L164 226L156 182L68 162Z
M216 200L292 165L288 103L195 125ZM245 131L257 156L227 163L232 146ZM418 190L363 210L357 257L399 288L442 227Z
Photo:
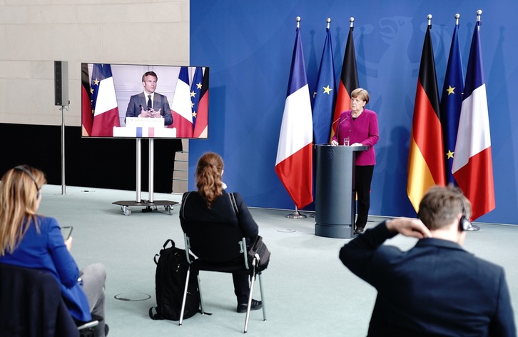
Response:
M178 138L193 136L193 112L191 109L191 90L189 88L189 73L186 66L182 66L176 82L173 104L171 104L173 124Z

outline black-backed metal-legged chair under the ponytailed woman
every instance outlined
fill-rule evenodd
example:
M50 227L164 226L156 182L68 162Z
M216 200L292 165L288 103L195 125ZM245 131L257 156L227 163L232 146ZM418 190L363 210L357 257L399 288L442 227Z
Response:
M261 272L256 271L255 268L250 269L248 266L246 241L240 229L226 223L213 222L182 224L182 228L189 268L187 271L186 288L183 291L179 325L181 326L183 321L183 310L186 304L187 285L191 275L191 269L195 271L216 271L220 273L244 273L250 276L250 296L248 296L244 333L248 331L253 286L255 277L258 276L261 301L263 302L263 321L266 321L266 307ZM191 261L189 251L197 257L194 261ZM255 266L255 258L253 263L253 266ZM200 290L200 309L201 313L205 313L199 273L197 278L198 288Z

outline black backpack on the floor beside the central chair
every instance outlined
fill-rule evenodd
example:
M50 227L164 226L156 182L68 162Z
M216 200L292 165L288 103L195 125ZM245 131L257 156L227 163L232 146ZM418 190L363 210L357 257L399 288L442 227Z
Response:
M171 243L171 247L166 248L168 243ZM156 260L157 257L158 261ZM191 261L193 259L191 258ZM149 317L152 319L180 321L183 290L189 267L186 251L176 248L174 241L168 239L163 244L160 254L156 254L153 261L156 263L155 287L157 306L149 308ZM200 311L200 292L196 279L197 275L198 272L191 269L183 319L192 317ZM153 314L153 308L156 309L155 314Z

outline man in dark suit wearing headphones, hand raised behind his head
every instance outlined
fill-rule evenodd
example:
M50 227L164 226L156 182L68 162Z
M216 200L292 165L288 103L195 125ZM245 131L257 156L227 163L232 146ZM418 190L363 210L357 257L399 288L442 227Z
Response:
M377 290L367 336L516 336L504 268L460 246L469 200L435 186L418 216L384 221L340 250L342 263ZM409 251L383 245L398 233L419 241Z

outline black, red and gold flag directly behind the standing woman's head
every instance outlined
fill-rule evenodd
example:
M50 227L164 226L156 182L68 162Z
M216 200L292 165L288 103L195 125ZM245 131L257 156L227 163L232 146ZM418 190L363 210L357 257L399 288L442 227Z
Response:
M340 114L345 110L351 109L351 92L357 89L358 71L356 69L355 41L352 37L354 27L349 28L347 36L347 44L345 45L345 54L343 56L342 73L340 74L340 84L338 85L338 96L336 99L335 114L332 117L331 135L335 136L335 129Z

